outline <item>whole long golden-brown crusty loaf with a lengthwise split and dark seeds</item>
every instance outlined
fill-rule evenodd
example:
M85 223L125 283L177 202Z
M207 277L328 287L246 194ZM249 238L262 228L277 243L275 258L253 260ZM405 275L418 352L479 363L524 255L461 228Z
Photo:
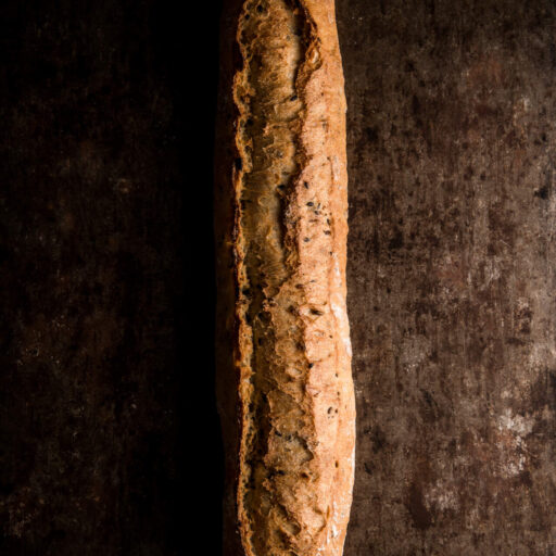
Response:
M333 0L229 0L216 132L226 556L340 556L355 408Z

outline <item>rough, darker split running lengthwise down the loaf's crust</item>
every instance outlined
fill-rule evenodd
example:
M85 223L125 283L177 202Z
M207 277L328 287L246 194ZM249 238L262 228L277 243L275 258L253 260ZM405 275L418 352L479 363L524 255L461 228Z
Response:
M245 544L254 554L278 556L299 544L302 533L287 498L292 481L307 473L313 454L305 439L314 433L303 389L308 363L295 316L304 294L289 279L299 258L295 223L287 215L303 110L295 83L304 54L299 10L283 1L248 2L238 37L244 60L236 88L244 168L239 289L247 330L239 504Z

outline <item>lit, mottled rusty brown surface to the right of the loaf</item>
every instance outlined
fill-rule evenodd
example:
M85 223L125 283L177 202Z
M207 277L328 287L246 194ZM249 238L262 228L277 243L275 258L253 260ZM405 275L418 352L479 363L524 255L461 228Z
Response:
M552 2L338 0L345 556L556 551Z

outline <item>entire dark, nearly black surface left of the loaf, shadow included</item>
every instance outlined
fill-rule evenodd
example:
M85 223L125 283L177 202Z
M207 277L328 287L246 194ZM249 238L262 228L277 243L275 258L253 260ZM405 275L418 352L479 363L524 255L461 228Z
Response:
M0 5L2 555L219 554L199 4Z

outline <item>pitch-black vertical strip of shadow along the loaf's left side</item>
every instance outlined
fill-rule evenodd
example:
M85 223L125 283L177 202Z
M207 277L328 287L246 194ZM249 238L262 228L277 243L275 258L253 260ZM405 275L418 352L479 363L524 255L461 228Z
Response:
M184 470L173 511L174 544L191 549L191 514L203 551L220 554L223 448L215 400L213 160L222 1L188 5L155 3L151 23L157 63L174 106L180 176L180 261L186 289L179 302L176 375L177 443ZM186 475L188 469L188 475ZM186 533L188 531L188 533ZM210 534L206 534L206 533Z

